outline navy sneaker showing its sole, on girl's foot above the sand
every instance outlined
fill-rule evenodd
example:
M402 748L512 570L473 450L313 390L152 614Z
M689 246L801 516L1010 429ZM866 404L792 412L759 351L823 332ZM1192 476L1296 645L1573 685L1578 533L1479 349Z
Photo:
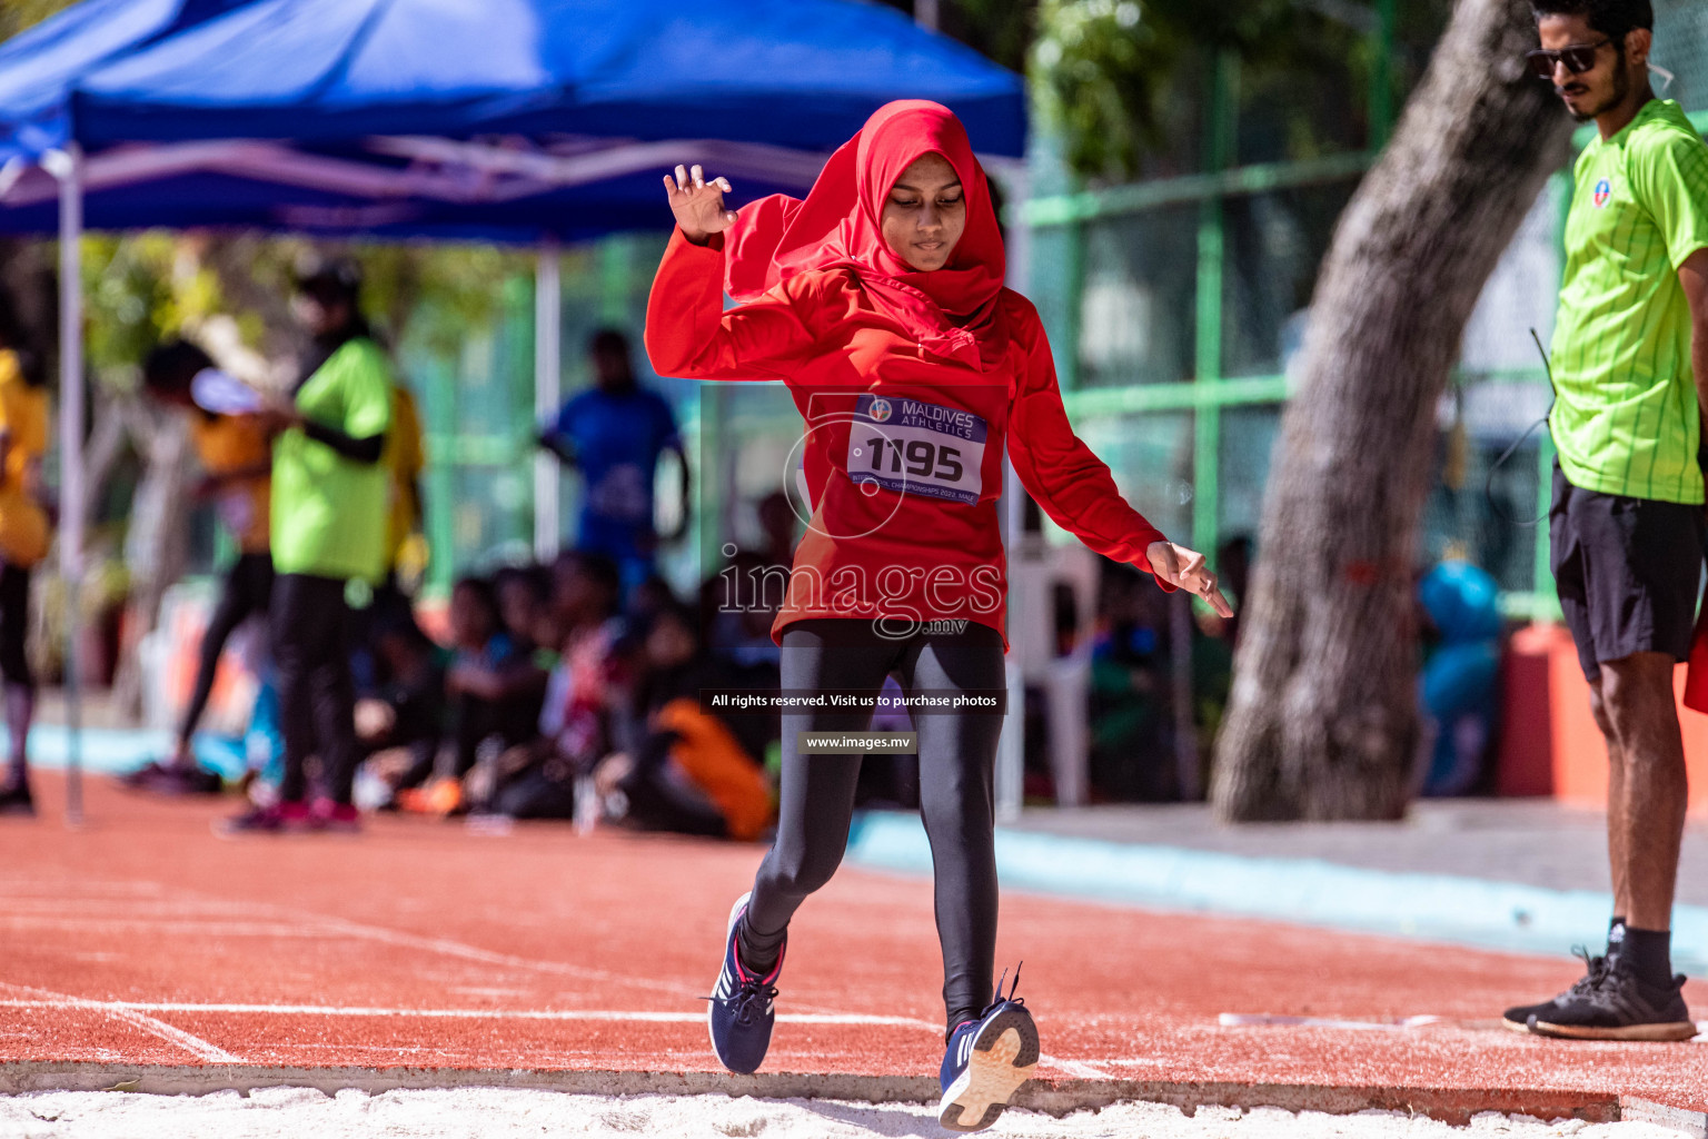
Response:
M1015 987L1003 997L1003 982L996 982L996 997L975 1021L955 1026L948 1048L943 1052L943 1101L938 1105L938 1122L950 1130L984 1130L996 1122L1020 1084L1032 1078L1038 1064L1038 1026L1023 1001L1015 999L1020 987L1020 970L1015 970Z

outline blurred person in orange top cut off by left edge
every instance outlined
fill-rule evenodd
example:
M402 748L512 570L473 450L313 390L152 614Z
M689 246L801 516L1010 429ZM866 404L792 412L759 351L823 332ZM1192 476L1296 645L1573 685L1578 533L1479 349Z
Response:
M51 526L41 505L41 456L48 449L46 376L24 352L12 297L0 290L0 678L12 738L0 815L34 815L29 791L29 724L36 676L29 668L29 577L48 555Z

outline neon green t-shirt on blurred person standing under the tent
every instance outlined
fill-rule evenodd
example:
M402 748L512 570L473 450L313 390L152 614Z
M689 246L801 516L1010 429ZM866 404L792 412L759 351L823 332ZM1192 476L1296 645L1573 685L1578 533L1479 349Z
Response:
M391 369L367 338L347 342L297 391L304 417L352 439L391 427ZM384 463L355 463L292 427L273 442L273 569L359 577L386 567Z

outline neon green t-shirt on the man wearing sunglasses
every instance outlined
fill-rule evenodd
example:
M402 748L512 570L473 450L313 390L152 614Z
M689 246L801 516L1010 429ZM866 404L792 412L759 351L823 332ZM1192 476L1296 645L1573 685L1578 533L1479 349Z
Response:
M1691 312L1679 265L1708 246L1708 145L1670 99L1573 169L1549 427L1573 487L1701 502Z

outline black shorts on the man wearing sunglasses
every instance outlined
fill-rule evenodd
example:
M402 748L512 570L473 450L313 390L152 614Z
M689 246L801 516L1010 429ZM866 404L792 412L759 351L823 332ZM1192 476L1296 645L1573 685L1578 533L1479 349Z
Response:
M1554 464L1549 564L1578 663L1691 652L1703 572L1703 507L1583 490Z

